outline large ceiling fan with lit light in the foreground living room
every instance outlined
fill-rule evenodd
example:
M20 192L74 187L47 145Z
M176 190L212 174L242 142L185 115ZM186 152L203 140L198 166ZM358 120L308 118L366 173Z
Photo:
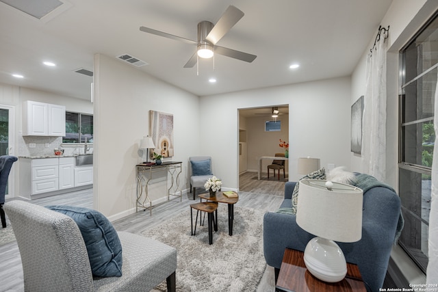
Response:
M201 21L198 23L198 41L189 40L188 38L181 38L180 36L174 36L167 34L163 31L157 31L149 27L140 27L140 31L147 32L149 34L155 34L157 36L164 36L164 38L170 38L172 40L179 40L187 44L196 44L196 52L190 57L188 62L184 65L184 68L192 68L198 61L198 57L210 58L214 53L232 57L234 59L240 59L245 62L253 62L257 57L241 51L235 51L225 47L216 46L216 43L233 27L240 18L244 16L244 12L239 10L233 5L229 5L224 14L220 16L216 25L209 21Z

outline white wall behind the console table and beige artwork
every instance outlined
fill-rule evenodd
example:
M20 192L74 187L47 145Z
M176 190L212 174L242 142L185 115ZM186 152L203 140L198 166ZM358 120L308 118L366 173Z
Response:
M149 110L173 114L172 160L183 162L180 186L185 189L188 157L201 152L198 97L117 59L95 55L94 207L112 219L135 211L137 150L149 132Z

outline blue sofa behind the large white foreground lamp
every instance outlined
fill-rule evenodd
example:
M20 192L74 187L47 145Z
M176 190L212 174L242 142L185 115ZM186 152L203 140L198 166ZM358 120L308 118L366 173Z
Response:
M285 184L285 198L280 208L292 209L292 191L296 183ZM299 201L299 196L298 196ZM362 238L355 243L338 243L346 261L359 266L368 291L382 287L392 245L402 228L400 198L390 187L364 189ZM304 251L315 237L296 224L296 215L268 212L263 218L263 249L266 263L279 276L285 248Z

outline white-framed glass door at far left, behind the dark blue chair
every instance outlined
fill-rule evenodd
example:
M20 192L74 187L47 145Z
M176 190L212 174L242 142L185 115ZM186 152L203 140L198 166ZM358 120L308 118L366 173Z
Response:
M10 105L0 105L0 155L14 155L14 107ZM6 196L14 194L14 168L12 168Z

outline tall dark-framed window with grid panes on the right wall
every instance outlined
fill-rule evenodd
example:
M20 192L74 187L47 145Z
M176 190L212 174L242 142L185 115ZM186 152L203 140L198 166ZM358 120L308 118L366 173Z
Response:
M426 273L438 75L437 15L400 51L400 56L399 193L405 222L399 242Z

